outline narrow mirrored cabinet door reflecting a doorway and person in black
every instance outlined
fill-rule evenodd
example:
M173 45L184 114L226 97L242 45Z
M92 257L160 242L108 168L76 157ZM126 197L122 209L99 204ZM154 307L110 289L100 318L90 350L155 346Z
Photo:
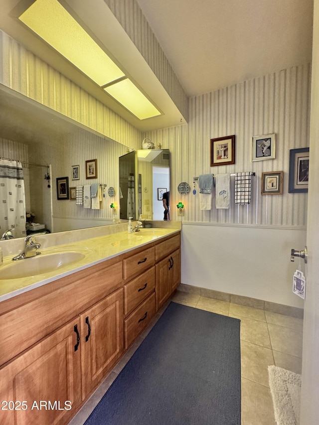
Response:
M141 182L141 211L143 218L163 220L162 197L169 191L169 149L138 150L138 174Z

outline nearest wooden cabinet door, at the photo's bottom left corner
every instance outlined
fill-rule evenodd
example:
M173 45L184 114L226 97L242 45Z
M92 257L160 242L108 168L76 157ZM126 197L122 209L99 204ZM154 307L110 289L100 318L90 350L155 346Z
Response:
M0 369L2 425L69 422L82 402L79 325L69 322Z

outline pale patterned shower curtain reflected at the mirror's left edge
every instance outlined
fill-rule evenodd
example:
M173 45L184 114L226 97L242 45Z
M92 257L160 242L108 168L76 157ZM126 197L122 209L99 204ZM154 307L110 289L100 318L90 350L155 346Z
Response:
M25 193L20 161L0 159L0 237L10 230L25 237Z

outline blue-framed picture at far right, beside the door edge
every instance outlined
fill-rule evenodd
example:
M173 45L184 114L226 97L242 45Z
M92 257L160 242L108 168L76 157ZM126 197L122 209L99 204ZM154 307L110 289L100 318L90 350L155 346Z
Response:
M309 147L290 149L289 193L308 192Z

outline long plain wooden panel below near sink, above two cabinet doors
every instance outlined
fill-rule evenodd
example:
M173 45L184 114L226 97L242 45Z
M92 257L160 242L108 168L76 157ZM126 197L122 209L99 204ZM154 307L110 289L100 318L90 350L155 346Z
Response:
M78 272L75 282L0 315L0 365L122 287L121 263L95 270Z

